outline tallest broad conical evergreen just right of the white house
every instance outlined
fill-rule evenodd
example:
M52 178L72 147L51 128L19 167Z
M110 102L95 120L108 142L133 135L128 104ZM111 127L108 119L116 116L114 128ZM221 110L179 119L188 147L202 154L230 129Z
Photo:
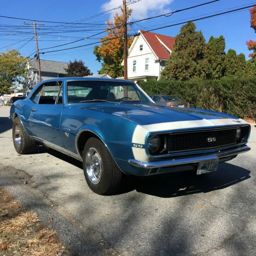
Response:
M188 80L205 78L203 66L205 39L201 31L196 31L194 22L188 22L181 27L175 36L175 45L162 71L164 79Z

